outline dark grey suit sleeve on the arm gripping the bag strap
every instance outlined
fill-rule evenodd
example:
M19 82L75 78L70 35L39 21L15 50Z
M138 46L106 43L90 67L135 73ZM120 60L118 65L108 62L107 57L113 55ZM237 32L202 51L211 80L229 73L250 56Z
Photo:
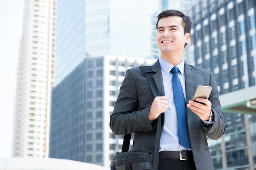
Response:
M139 68L126 71L113 113L110 116L110 129L116 135L153 130L148 120L148 112L152 102L145 105L146 102L142 103L141 101L143 97L147 98L147 94L140 94L143 92L141 90L143 85L147 84L145 80L146 77L142 75Z

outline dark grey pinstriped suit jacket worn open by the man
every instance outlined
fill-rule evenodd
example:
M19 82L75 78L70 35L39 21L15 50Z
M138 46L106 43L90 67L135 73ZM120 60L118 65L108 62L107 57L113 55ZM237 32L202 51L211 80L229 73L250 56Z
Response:
M159 60L150 66L155 74L153 78L161 96L164 85ZM197 170L214 170L206 135L219 139L225 131L217 85L213 74L202 68L185 62L186 103L192 99L198 85L211 86L209 100L214 112L214 124L210 128L203 126L200 118L189 108L186 109L189 138ZM110 128L116 135L134 133L133 148L145 148L154 152L157 120L150 123L148 112L154 100L146 77L139 68L126 71L126 77L120 87L113 114L110 116ZM163 125L162 125L163 126ZM160 139L157 139L160 140Z

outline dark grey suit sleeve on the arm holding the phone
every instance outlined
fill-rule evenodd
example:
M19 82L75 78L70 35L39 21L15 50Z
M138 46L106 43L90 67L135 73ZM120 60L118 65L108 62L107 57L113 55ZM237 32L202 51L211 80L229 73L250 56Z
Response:
M210 86L212 87L212 92L209 96L209 100L211 101L211 107L214 113L214 123L210 128L204 127L203 125L202 126L205 133L211 139L219 139L222 137L222 135L224 135L225 122L221 111L218 88L212 72L210 72Z

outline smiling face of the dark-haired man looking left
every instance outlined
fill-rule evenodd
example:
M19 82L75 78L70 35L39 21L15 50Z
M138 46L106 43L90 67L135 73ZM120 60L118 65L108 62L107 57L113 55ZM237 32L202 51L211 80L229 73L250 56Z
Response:
M189 39L189 33L184 35L182 17L169 16L159 20L156 40L161 57L178 55L183 59L184 45L189 42Z

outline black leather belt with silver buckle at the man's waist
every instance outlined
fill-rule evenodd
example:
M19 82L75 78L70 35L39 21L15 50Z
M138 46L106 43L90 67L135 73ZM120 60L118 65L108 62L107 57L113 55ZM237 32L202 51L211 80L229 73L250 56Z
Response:
M161 151L159 152L159 160L161 160L161 158L180 159L180 160L194 159L192 151L188 151L188 150Z

